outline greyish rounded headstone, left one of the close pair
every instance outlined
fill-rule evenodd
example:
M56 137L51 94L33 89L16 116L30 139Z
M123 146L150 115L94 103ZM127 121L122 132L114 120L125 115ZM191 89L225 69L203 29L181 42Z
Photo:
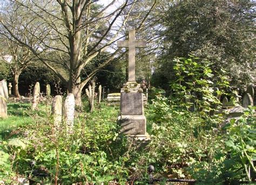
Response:
M51 106L53 124L58 129L62 122L62 96L56 95Z

